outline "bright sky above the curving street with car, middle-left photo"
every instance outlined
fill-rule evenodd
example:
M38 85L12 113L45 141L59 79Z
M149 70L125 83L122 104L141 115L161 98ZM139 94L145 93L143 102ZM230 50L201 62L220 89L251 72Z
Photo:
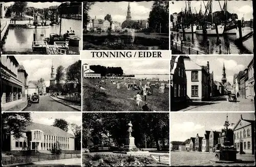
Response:
M67 68L80 58L79 56L15 56L20 65L23 65L28 73L28 81L38 80L40 78L45 79L47 87L50 86L52 61L54 66L54 72L58 66L62 65Z

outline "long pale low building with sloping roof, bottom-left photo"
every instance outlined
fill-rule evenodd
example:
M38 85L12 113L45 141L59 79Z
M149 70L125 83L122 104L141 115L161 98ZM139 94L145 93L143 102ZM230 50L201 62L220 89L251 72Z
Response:
M23 137L10 136L10 150L51 150L54 144L61 150L75 150L75 136L59 127L32 123L23 131ZM7 141L6 141L7 142ZM7 144L7 143L6 143Z

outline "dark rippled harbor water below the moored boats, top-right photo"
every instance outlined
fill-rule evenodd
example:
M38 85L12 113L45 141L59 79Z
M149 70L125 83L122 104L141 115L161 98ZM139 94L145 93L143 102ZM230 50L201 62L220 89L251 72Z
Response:
M242 35L245 36L248 33L252 32L253 29L250 27L244 27L242 29ZM226 41L228 40L230 43L230 54L252 54L253 53L253 38L248 39L247 41L243 42L243 45L236 45L234 40L239 38L239 31L237 29L237 34L223 34L220 36L221 40L221 52L219 49L219 45L217 44L217 36L207 36L204 37L203 35L194 34L194 38L192 38L192 34L185 34L182 37L182 33L174 33L174 40L178 43L181 43L181 39L183 38L183 46L190 47L191 49L195 49L204 53L207 53L207 39L210 40L209 46L209 54L227 54L227 47Z

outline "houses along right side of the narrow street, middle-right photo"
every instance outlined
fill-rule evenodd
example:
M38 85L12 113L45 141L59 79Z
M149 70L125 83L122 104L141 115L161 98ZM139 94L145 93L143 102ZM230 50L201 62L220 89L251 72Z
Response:
M247 68L240 71L238 74L234 74L233 77L233 92L239 94L240 97L246 99L254 99L254 60L248 64Z

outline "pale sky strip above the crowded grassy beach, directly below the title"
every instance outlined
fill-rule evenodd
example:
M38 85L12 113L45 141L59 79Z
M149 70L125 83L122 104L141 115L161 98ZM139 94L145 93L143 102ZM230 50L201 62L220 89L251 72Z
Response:
M82 64L101 65L105 67L121 67L125 74L169 74L168 61L83 61Z

